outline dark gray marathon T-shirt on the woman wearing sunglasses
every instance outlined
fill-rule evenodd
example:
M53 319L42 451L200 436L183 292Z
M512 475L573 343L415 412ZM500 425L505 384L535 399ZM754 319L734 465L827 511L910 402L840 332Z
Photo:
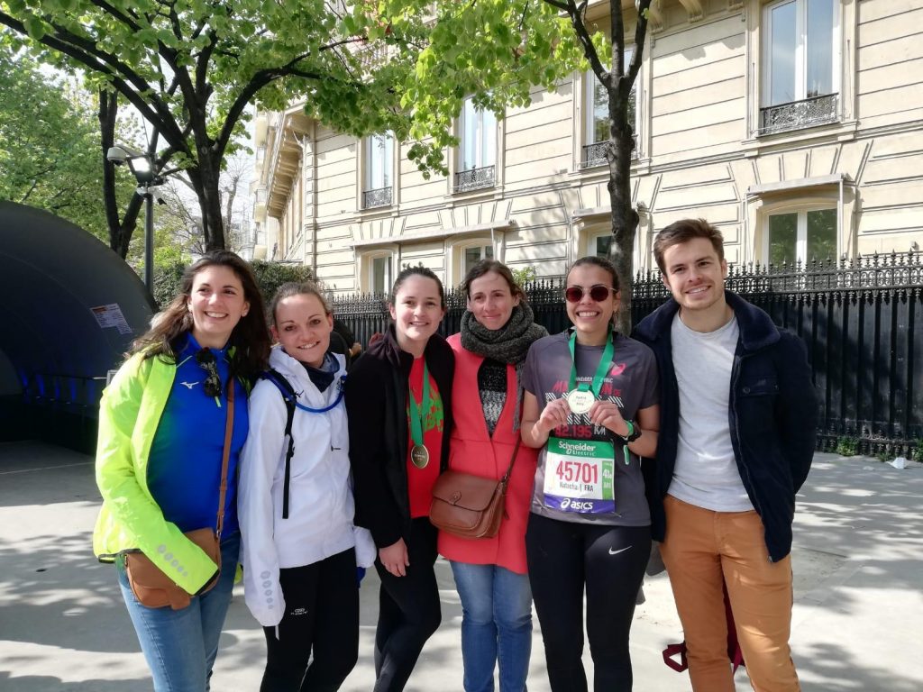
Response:
M522 386L538 400L539 412L550 400L562 399L569 391L572 361L568 348L570 331L535 341L526 357ZM577 382L592 382L603 346L581 346L574 352ZM603 379L600 399L617 404L626 420L635 420L640 409L658 401L657 364L653 352L640 341L620 334L615 336L615 353L609 372ZM644 497L644 479L640 460L634 454L625 463L622 438L604 427L590 423L589 415L570 413L568 424L553 430L552 437L573 440L609 440L615 443L614 491L615 511L606 514L581 514L545 506L545 459L547 446L538 455L532 511L551 519L613 526L648 526L651 514Z

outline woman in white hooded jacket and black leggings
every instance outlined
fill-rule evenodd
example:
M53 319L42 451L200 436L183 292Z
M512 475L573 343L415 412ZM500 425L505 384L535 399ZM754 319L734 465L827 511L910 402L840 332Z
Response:
M316 286L282 285L271 316L279 345L251 394L238 491L246 605L267 642L260 691L337 690L358 657L356 567L375 558L353 525L346 369L328 352L333 316Z

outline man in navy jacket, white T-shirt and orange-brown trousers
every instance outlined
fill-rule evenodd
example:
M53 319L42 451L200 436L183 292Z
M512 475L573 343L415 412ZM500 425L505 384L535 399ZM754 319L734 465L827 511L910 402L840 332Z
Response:
M754 689L797 690L789 554L817 424L807 353L725 291L723 239L707 221L667 226L654 257L673 297L634 336L660 366L653 537L663 542L692 687L734 691L726 586Z

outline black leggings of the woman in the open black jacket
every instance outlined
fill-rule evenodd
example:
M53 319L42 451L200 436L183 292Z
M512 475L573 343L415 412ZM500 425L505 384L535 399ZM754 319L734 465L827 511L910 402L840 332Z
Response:
M375 632L375 692L399 692L407 684L426 639L438 629L439 589L436 583L436 528L423 517L412 521L407 542L410 567L395 577L375 560L378 629Z

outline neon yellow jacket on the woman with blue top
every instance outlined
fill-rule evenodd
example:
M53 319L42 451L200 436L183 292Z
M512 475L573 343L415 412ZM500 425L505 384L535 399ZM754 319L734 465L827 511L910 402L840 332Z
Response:
M102 392L96 446L102 510L93 552L102 562L113 562L118 553L138 548L178 586L196 593L218 566L163 518L148 489L150 445L175 374L174 364L136 353Z

